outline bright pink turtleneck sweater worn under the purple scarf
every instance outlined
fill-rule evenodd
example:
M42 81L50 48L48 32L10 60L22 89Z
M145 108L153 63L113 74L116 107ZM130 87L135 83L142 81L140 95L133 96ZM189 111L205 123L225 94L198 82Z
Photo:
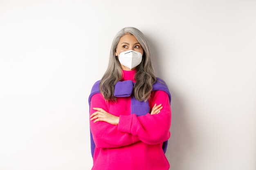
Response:
M134 80L136 71L123 71L123 80ZM95 142L92 170L168 170L170 165L164 155L162 144L170 137L171 106L164 91L153 91L150 109L162 104L160 113L144 116L131 114L131 97L118 97L117 102L106 102L97 93L92 96L92 108L103 108L119 116L119 124L104 121L93 123L90 128Z

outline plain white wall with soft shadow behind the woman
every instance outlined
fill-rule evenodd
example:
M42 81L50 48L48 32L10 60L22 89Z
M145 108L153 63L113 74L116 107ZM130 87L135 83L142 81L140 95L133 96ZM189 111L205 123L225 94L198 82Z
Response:
M88 95L140 29L172 94L171 170L256 169L255 0L0 0L0 170L90 170Z

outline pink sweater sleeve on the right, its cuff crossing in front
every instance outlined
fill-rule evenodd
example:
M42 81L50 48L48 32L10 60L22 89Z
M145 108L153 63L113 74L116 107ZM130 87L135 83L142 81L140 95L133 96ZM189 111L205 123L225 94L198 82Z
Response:
M162 104L160 113L143 116L120 115L118 131L137 136L146 144L159 144L169 139L171 127L171 106L169 97L164 91L155 91L151 106Z

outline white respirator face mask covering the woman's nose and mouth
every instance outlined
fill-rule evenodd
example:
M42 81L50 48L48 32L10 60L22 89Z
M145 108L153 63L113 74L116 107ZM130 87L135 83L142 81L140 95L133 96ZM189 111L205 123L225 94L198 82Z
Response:
M142 61L142 54L137 51L128 50L128 51L121 52L118 55L119 55L119 62L122 65L130 68L130 70L138 66Z

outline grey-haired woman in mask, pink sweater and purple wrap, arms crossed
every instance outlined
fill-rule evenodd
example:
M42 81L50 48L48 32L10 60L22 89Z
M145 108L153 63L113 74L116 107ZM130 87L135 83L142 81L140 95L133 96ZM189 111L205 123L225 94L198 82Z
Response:
M92 170L168 170L170 102L143 33L119 31L107 71L89 97Z

